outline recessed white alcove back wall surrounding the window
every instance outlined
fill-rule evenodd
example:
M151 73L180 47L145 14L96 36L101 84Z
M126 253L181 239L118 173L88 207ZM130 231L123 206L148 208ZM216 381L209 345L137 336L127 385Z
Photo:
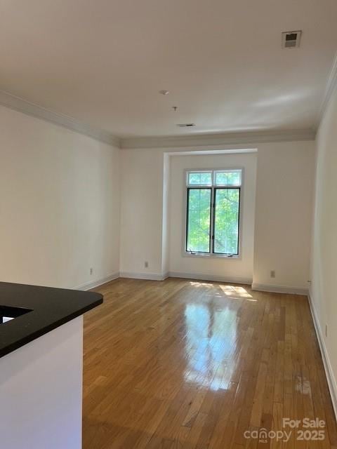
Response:
M249 283L253 279L253 240L256 191L256 153L209 154L203 156L171 156L170 182L170 265L169 272L182 277L188 274L204 279L212 276ZM202 168L243 168L242 237L238 259L224 257L197 257L183 254L185 240L185 170ZM204 275L204 276L202 276Z

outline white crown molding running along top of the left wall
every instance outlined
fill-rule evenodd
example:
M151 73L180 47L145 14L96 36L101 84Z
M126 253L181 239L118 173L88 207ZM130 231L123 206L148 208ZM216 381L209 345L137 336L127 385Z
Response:
M49 111L44 107L35 105L32 102L23 100L22 98L16 97L15 95L5 91L0 91L0 105L15 109L15 111L18 112L23 112L23 114L36 117L37 119L48 121L58 126L63 126L64 128L68 128L76 133L87 135L90 138L100 140L100 142L113 145L114 147L120 147L121 145L120 139L107 131L93 128L86 123L82 123L81 121L64 114Z

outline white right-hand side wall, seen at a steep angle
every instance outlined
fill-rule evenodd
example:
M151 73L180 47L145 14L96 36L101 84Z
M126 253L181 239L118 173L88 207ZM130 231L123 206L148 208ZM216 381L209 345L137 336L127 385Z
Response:
M337 89L317 133L311 291L337 413ZM327 336L325 327L327 326ZM330 378L329 378L330 376Z

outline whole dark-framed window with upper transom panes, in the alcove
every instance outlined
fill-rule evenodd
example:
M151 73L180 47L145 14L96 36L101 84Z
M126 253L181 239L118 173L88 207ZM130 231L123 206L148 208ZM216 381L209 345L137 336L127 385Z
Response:
M185 251L239 255L242 170L188 171Z

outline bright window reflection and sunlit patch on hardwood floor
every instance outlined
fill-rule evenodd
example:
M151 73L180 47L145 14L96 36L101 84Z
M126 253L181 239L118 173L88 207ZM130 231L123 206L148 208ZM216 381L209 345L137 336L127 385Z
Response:
M227 300L257 302L243 286L190 281L201 289L201 304L186 304L185 382L227 389L235 369L237 307Z

